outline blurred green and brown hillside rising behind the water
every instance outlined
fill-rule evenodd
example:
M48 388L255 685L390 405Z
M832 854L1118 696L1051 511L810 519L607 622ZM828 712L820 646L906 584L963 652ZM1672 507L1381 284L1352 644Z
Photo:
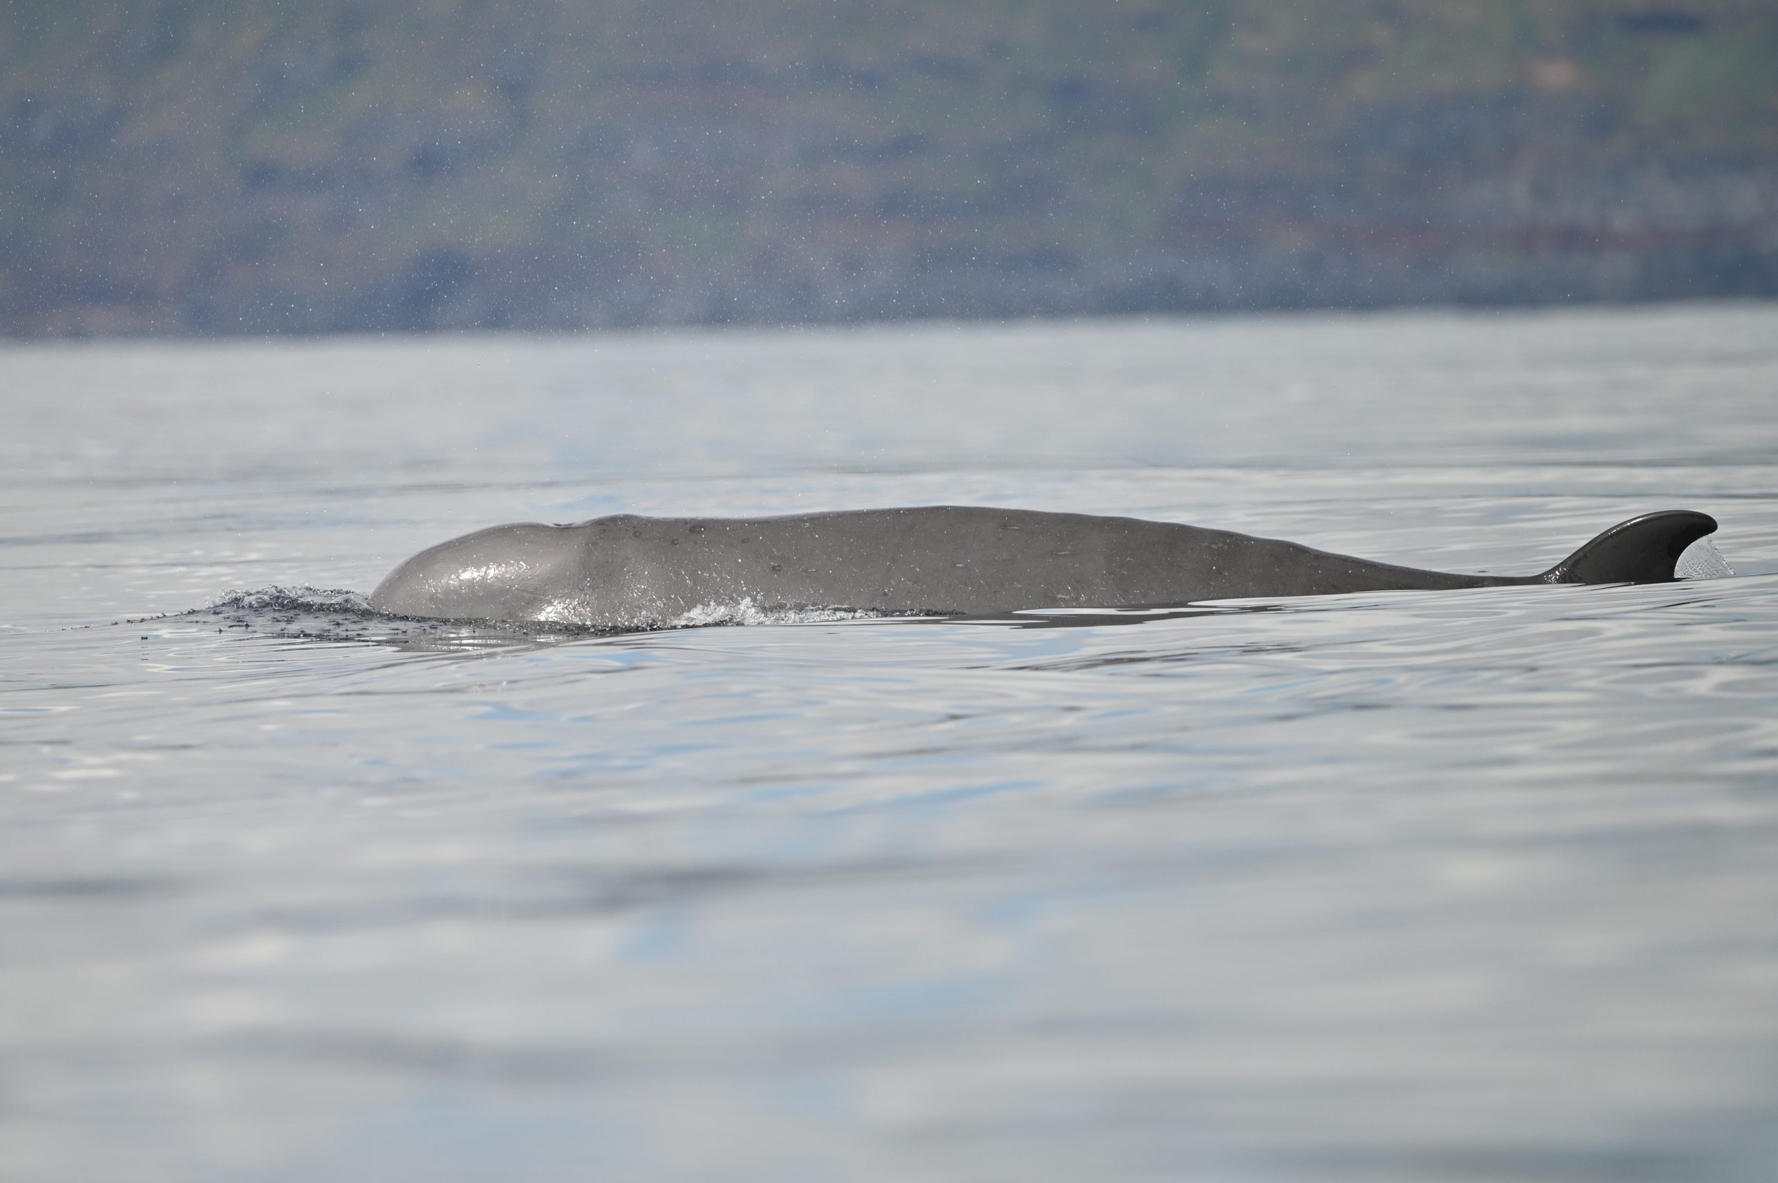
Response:
M1771 0L0 9L0 333L1705 294Z

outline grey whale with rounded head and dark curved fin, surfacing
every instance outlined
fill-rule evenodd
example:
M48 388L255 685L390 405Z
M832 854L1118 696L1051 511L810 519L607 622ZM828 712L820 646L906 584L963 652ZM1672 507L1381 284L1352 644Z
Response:
M396 616L665 624L701 605L980 616L1243 596L1661 583L1707 514L1616 525L1540 575L1451 575L1140 518L926 505L782 518L638 518L491 527L420 551L372 592Z

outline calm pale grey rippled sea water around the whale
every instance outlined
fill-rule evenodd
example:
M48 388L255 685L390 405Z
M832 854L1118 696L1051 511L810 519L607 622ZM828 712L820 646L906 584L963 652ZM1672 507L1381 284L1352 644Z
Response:
M0 411L9 1183L1778 1171L1774 306L9 343ZM1734 575L356 607L939 502L1499 573L1700 509Z

